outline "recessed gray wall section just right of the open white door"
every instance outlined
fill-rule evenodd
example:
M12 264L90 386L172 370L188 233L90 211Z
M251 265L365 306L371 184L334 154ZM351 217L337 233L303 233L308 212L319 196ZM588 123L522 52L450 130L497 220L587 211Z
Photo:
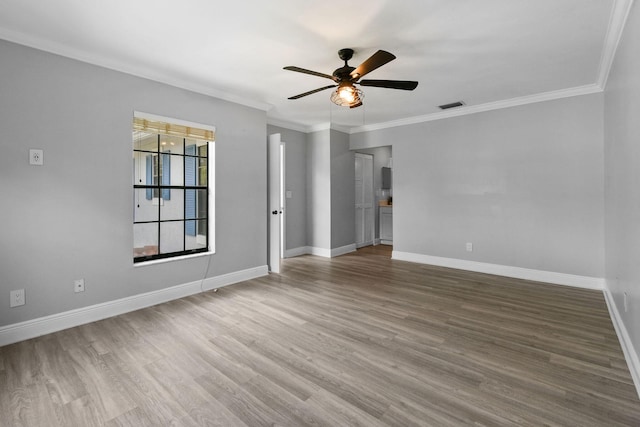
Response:
M307 246L307 134L268 125L267 133L279 133L285 146L285 250Z

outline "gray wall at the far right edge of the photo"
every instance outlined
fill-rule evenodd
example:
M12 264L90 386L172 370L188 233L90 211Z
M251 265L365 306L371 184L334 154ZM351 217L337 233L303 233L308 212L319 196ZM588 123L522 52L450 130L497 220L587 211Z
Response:
M640 354L639 51L640 10L635 4L605 91L604 148L606 279L636 354Z

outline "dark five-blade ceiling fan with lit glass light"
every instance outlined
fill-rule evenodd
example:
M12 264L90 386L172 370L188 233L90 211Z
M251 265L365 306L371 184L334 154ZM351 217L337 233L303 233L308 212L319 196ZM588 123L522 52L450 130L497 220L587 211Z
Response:
M298 99L303 96L311 95L316 92L320 92L326 89L337 88L331 94L331 101L334 104L356 108L362 105L362 98L364 94L355 85L360 86L374 86L384 87L388 89L402 89L402 90L414 90L418 86L418 82L409 80L360 80L366 74L376 68L382 67L384 64L396 59L395 55L379 50L369 59L360 64L357 68L351 67L347 64L353 57L353 49L340 49L338 56L344 61L344 66L336 69L332 75L319 73L317 71L306 70L300 67L288 66L284 67L285 70L296 71L298 73L311 74L312 76L324 77L333 80L336 84L324 86L318 89L310 90L309 92L301 93L299 95L291 96L288 99Z

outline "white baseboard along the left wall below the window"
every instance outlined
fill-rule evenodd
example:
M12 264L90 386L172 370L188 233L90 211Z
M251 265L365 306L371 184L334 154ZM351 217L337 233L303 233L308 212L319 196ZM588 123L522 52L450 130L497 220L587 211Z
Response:
M260 266L0 327L0 347L269 274Z

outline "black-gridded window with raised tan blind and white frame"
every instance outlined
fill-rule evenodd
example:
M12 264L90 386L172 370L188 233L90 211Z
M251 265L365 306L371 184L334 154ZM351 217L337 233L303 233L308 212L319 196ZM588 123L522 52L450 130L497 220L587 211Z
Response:
M134 262L212 250L214 130L135 114Z

